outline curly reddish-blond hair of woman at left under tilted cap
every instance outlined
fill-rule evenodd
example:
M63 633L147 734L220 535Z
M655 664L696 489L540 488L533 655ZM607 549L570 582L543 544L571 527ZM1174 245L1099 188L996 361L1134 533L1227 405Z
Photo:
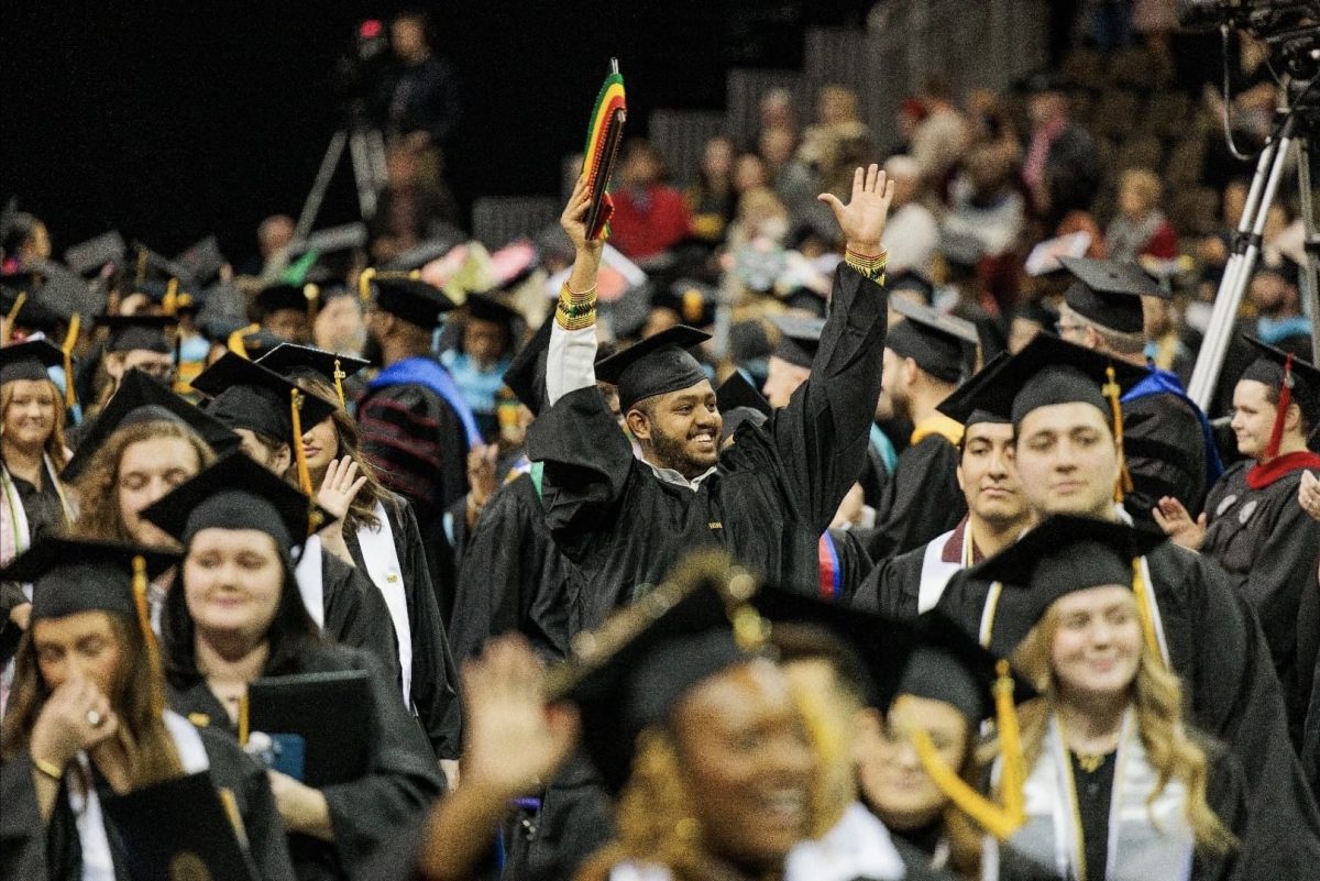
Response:
M92 455L87 470L74 483L74 492L81 502L78 520L73 526L74 534L103 541L135 541L128 534L119 509L119 467L128 447L157 438L178 438L187 442L197 454L198 471L215 462L215 454L206 440L181 422L152 419L112 431Z

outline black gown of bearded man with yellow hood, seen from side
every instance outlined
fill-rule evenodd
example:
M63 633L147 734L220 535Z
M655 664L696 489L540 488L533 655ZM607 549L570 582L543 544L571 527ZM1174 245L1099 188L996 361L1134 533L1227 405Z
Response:
M957 470L958 448L939 434L928 434L899 454L867 541L871 559L879 562L923 547L958 525L968 513L968 501Z

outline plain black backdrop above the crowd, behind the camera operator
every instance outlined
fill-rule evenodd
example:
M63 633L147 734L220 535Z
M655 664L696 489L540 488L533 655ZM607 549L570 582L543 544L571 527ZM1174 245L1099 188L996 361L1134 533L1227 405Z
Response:
M117 228L162 253L216 233L231 260L261 218L294 218L342 115L331 71L355 25L418 4L0 5L0 199L55 253ZM482 195L556 193L609 58L630 124L721 107L731 66L796 67L803 30L859 24L870 0L477 0L424 4L465 116L447 177ZM347 161L318 227L354 219Z

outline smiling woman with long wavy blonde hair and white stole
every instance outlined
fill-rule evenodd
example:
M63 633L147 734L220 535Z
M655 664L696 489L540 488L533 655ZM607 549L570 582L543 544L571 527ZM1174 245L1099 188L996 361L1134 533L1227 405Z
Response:
M995 765L1024 806L1008 844L1068 878L1229 878L1246 828L1241 764L1184 721L1183 688L1160 655L1133 558L1159 534L1051 517L981 563L1024 584L1036 624L1018 666L1044 702L1024 708L1030 768ZM1022 785L1020 794L1010 790ZM987 841L985 877L997 847Z

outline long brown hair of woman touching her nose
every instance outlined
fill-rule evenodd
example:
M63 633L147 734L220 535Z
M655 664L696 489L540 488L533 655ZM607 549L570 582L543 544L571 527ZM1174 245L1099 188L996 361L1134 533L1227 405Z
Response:
M119 717L115 736L128 756L131 787L139 789L180 777L183 766L178 750L164 719L156 712L156 707L165 704L165 675L147 650L137 619L123 613L106 615L120 652L115 682L111 694L106 696ZM9 694L4 727L0 728L0 757L7 761L28 746L37 716L50 698L32 636L37 626L41 626L41 621L33 621L33 626L24 633L15 657L13 691Z

